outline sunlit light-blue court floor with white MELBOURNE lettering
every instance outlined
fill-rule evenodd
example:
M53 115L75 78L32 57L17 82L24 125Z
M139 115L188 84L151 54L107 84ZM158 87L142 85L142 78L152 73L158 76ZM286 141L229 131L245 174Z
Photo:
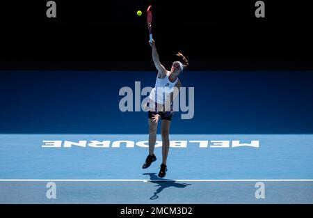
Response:
M157 162L141 169L147 134L0 141L0 203L313 203L313 134L171 134L163 179L161 141Z

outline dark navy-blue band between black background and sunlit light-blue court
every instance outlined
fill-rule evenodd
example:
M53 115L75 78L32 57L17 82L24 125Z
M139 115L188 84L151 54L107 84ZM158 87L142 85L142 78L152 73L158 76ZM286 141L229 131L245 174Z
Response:
M0 133L147 133L147 113L121 112L122 86L155 71L1 71ZM186 71L195 115L171 133L311 133L313 72ZM144 97L142 97L143 99Z

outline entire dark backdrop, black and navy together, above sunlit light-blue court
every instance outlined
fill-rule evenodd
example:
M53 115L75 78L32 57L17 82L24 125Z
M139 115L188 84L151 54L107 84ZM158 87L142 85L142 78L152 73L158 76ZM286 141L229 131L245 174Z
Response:
M195 87L195 117L172 132L313 132L312 1L266 0L264 19L252 0L56 0L56 19L46 2L1 2L0 132L146 132L118 90L154 84L149 4L161 62L185 54Z

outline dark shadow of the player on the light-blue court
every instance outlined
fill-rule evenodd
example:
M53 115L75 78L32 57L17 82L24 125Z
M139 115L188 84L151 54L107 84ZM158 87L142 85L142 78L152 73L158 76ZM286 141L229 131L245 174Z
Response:
M158 187L153 196L150 197L150 200L155 200L159 198L158 194L160 194L164 189L168 187L184 188L188 185L191 185L187 183L178 183L175 180L159 178L157 176L157 173L143 173L143 175L149 175L151 180L149 182L157 184L156 187Z

